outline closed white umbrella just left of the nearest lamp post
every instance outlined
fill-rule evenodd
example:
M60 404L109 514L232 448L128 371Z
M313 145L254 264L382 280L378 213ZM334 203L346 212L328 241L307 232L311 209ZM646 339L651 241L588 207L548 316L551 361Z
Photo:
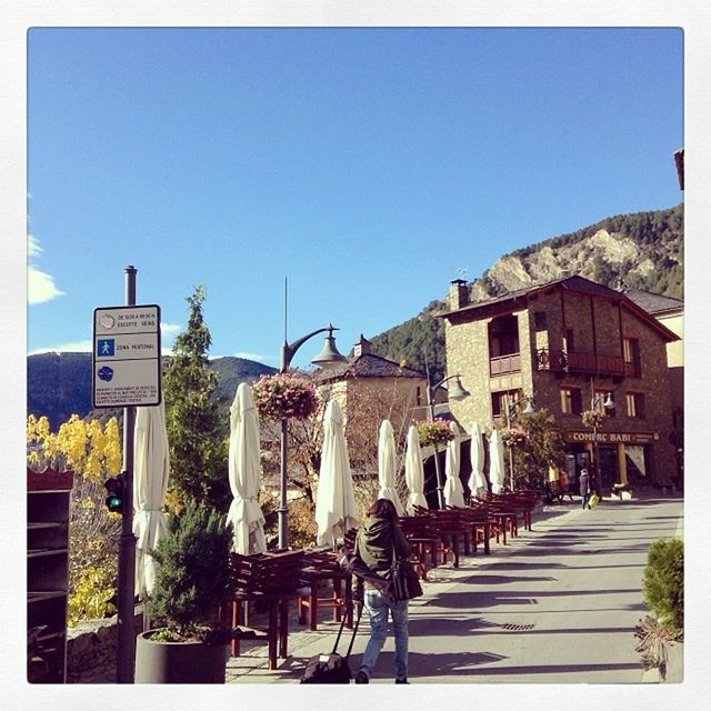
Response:
M234 535L232 550L242 555L263 553L267 550L264 514L258 501L261 480L259 413L252 389L244 382L238 385L230 407L228 474L234 497L227 514Z

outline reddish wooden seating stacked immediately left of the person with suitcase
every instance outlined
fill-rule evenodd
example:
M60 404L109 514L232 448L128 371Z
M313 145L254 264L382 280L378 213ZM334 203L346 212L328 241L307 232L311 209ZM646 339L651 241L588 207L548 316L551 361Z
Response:
M346 627L353 627L353 599L351 573L341 569L338 554L332 551L314 551L304 555L301 581L308 594L299 598L299 622L316 630L321 609L332 609L333 620L339 622L344 613ZM324 590L324 588L327 588ZM326 593L326 594L323 594Z

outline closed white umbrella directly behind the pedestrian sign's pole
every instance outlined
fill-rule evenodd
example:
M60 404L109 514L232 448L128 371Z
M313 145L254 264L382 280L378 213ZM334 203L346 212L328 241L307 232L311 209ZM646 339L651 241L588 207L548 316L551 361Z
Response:
M136 593L144 597L156 583L156 560L150 551L168 532L162 511L170 478L164 404L137 408L133 432Z

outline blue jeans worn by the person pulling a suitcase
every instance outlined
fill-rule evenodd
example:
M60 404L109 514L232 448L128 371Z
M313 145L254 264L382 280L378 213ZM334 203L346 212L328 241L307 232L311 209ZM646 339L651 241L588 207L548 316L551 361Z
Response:
M370 615L370 639L360 662L361 671L372 677L380 650L388 637L388 612L395 637L395 679L408 678L408 601L395 602L378 590L365 590L363 604Z

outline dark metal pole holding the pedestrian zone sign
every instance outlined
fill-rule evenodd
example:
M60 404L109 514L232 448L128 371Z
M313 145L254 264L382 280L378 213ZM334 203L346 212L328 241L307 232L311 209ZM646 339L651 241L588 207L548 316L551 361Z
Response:
M126 306L136 306L134 267L126 268ZM136 655L134 587L136 587L136 537L133 535L133 438L136 408L123 408L123 515L121 517L121 537L119 539L119 591L118 591L118 659L117 681L120 684L133 683L133 663Z

